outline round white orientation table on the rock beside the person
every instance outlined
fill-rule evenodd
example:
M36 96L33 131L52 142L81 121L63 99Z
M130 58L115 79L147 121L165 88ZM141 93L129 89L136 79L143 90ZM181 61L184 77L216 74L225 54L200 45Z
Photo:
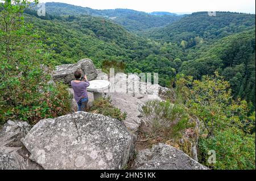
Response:
M109 81L105 81L105 80L94 80L89 82L90 82L90 86L87 87L87 91L93 92L94 100L101 98L102 91L108 89L111 85Z

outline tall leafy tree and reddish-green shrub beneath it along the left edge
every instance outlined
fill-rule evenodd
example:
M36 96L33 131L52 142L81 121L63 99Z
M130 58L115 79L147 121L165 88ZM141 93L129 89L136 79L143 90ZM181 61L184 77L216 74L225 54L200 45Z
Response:
M0 124L37 121L70 111L67 86L49 83L49 53L20 16L28 2L5 1L0 12ZM7 27L7 28L6 28Z

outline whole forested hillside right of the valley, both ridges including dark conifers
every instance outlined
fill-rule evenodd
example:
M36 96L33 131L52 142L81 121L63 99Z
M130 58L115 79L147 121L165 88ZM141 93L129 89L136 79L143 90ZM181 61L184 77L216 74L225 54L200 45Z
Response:
M246 99L255 107L255 15L196 12L146 33L183 49L178 72L200 79L218 70L230 82L234 98Z

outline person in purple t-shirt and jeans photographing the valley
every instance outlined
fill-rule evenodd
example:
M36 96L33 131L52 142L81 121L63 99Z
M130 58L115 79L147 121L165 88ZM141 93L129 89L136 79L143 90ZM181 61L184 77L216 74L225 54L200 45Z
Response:
M81 69L76 70L74 75L76 80L71 81L71 86L74 90L78 111L86 111L88 103L87 87L90 85L90 83L86 75L82 76Z

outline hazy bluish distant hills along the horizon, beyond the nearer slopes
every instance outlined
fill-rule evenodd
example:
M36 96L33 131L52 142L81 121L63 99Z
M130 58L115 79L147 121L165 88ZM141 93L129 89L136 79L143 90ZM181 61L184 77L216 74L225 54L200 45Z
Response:
M147 12L114 9L114 10L94 10L89 7L68 5L65 3L48 2L46 12L52 15L91 15L108 18L122 25L129 31L143 31L152 27L163 27L179 20L182 16L170 12Z

